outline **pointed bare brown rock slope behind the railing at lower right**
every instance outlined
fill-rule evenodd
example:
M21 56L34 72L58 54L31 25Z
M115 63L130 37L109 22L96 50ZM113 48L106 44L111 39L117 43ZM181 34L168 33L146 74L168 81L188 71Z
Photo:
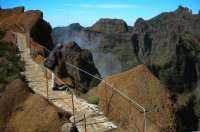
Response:
M105 81L112 82L119 91L146 108L147 131L175 131L175 115L170 93L144 65L109 76ZM127 131L131 131L131 123L142 130L144 121L143 114L140 113L141 109L136 105L131 106L119 94L112 93L104 82L99 84L98 91L101 96L109 100L108 113L115 121L124 124L122 127ZM99 107L105 112L104 105L105 102L100 99ZM126 124L126 120L122 120L123 118L120 119L120 116L112 111L112 106L117 107L123 114L131 118L130 124Z

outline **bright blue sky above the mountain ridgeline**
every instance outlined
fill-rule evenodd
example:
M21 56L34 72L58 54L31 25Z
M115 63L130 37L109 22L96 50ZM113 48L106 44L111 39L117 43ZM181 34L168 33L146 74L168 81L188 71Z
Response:
M100 18L123 19L133 26L138 18L148 20L179 5L197 14L200 0L0 0L0 5L3 9L24 6L26 11L41 10L52 27L77 22L89 27Z

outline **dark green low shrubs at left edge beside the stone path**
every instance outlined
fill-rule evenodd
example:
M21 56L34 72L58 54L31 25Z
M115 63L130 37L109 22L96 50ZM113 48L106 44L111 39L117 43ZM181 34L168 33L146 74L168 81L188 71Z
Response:
M0 39L4 34L0 30ZM14 79L24 79L24 76L20 74L23 71L23 65L20 62L16 45L0 41L0 66L0 92L3 92L6 85Z

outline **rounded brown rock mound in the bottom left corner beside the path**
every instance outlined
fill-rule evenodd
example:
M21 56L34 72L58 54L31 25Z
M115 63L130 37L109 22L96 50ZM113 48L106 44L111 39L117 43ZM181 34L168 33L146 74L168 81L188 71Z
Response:
M0 99L3 131L59 131L62 122L55 107L21 80L13 81Z

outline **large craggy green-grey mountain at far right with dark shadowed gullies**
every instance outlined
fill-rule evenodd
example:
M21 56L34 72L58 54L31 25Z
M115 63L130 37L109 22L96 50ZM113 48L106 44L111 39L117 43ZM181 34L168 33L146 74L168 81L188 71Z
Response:
M132 45L139 61L173 92L191 91L198 80L200 17L179 6L134 25Z

